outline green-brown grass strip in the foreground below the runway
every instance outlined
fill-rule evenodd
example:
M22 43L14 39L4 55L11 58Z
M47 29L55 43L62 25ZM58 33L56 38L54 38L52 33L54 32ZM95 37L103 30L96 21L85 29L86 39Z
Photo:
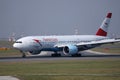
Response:
M0 75L20 80L120 80L120 59L0 62Z

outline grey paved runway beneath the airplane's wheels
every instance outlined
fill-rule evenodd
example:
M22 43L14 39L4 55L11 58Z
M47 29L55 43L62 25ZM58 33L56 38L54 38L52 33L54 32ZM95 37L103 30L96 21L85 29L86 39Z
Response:
M51 57L50 55L22 57L0 57L0 62L23 62L23 61L56 61L56 60L100 60L100 59L120 59L120 54L106 54L100 52L86 51L81 57L61 56Z

